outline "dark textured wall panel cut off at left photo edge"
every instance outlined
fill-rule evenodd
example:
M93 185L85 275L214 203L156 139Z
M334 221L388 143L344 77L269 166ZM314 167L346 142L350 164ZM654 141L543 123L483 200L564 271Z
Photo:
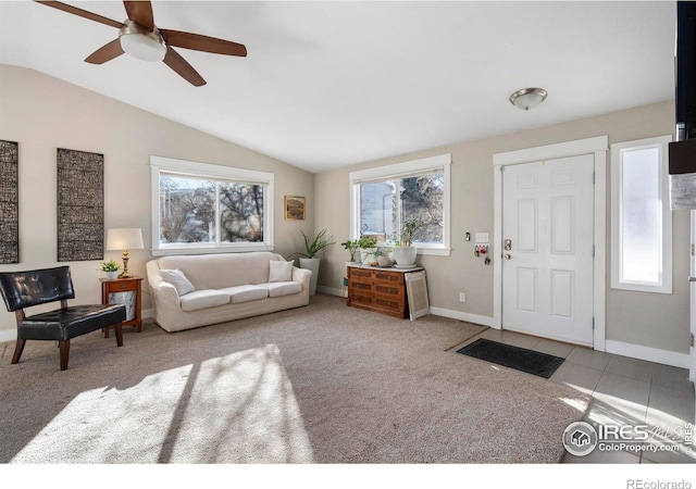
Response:
M0 264L20 263L20 145L0 140Z

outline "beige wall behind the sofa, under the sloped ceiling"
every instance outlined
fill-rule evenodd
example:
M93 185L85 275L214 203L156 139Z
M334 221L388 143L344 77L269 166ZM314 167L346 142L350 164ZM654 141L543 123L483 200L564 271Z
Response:
M191 88L195 90L195 88ZM176 101L172 101L176 103ZM99 261L57 263L55 151L67 148L104 154L104 226L140 227L150 247L150 155L251 168L275 174L275 251L301 250L303 222L283 218L285 195L307 196L311 173L237 145L135 109L33 70L0 65L0 138L20 143L20 260L0 272L69 264L75 303L100 302ZM105 259L120 260L107 251ZM145 276L149 251L130 251L128 269ZM144 309L151 306L144 293ZM0 308L0 340L15 330L14 314Z

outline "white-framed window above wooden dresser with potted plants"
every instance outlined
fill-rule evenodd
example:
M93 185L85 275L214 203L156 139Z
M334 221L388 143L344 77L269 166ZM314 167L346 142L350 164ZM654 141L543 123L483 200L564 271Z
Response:
M421 254L449 254L449 166L451 156L415 160L352 172L351 237L373 236L396 244L403 224L420 221L413 241Z

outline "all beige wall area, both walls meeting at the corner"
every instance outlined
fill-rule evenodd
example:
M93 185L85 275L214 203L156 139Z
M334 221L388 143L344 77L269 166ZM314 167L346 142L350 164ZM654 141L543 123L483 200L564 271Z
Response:
M467 231L493 234L493 154L600 135L608 135L611 143L673 134L673 102L656 103L312 175L32 70L0 65L0 138L20 142L21 239L21 263L0 265L0 271L58 264L55 149L60 147L104 154L105 227L141 227L146 247L150 246L151 154L274 173L276 251L289 256L301 250L300 229L311 235L327 228L337 243L325 254L319 284L340 290L347 252L338 243L349 237L348 173L450 152L452 253L419 260L428 271L433 306L493 316L493 267L474 259L472 242L463 239ZM609 170L610 164L608 183ZM285 195L307 196L307 221L283 220ZM688 213L674 212L673 218L674 292L666 296L611 290L607 277L607 339L680 353L688 351ZM607 242L608 256L609 251ZM119 254L108 251L105 259L119 259ZM144 264L149 259L148 251L132 251L130 271L144 275ZM98 279L102 275L96 269L99 262L67 264L75 279L76 302L98 302ZM460 291L467 293L465 303L458 301ZM145 309L149 309L147 292L144 300ZM2 308L0 340L14 328L13 314Z

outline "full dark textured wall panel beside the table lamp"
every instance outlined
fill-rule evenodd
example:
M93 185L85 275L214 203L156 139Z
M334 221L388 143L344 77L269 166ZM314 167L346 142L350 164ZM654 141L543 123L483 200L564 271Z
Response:
M104 255L104 155L58 149L58 261Z

